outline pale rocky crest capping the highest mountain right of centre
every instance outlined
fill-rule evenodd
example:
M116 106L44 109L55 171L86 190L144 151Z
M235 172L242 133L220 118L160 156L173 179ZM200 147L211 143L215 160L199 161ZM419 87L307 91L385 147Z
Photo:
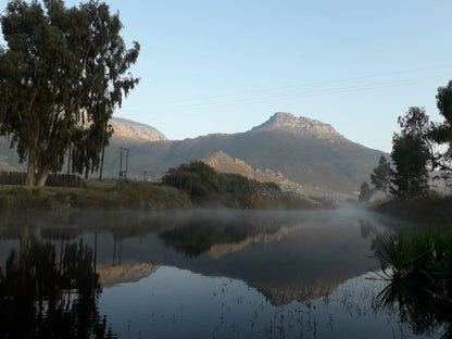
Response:
M277 112L273 114L264 124L254 127L253 129L285 129L297 133L310 134L316 137L331 136L339 134L329 125L309 117L297 117L291 113Z

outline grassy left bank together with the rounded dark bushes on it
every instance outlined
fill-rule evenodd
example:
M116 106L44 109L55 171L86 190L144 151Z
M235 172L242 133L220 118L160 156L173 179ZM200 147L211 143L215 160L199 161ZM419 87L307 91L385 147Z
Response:
M285 193L273 183L217 173L201 162L171 168L162 183L87 180L87 187L0 186L0 211L327 209L332 202Z

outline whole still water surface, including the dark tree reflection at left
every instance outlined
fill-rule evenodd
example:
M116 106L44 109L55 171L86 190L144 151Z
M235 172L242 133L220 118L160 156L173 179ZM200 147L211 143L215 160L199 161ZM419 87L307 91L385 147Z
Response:
M395 307L353 209L3 215L0 338L437 338Z

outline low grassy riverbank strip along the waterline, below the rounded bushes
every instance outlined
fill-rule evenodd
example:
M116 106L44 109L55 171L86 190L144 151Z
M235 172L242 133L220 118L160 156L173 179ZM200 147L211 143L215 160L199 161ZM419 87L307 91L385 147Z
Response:
M328 201L281 194L213 194L193 199L186 191L145 181L88 180L86 188L0 186L0 211L172 210L226 208L296 210L328 208Z

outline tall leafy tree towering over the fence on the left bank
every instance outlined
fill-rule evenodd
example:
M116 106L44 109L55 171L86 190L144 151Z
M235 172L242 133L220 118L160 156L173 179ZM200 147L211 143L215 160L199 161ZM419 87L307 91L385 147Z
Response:
M91 0L10 1L1 16L0 135L27 161L27 184L45 185L71 148L72 171L96 171L112 135L113 111L138 79L128 74L138 42L126 49L118 14Z

